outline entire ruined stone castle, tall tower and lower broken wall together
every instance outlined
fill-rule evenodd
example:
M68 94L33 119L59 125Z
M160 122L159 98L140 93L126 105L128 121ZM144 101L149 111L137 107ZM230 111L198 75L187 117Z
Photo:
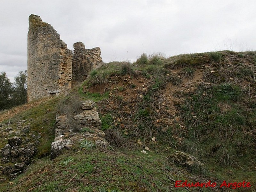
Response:
M73 53L40 16L31 14L28 21L28 101L69 92L102 62L99 47L77 42Z

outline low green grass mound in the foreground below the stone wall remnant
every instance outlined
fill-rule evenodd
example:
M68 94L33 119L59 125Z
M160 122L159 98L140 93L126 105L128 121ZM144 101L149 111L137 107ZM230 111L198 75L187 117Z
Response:
M179 173L164 154L140 151L68 152L55 161L39 160L27 174L14 180L8 191L179 191L175 182L185 180L188 172ZM61 175L61 176L60 176ZM73 178L73 179L72 179ZM71 181L70 181L71 180ZM190 179L188 179L190 180ZM70 181L70 182L69 182ZM69 182L69 183L68 183ZM194 181L195 182L195 181ZM180 190L182 191L182 190ZM209 191L203 189L203 191Z

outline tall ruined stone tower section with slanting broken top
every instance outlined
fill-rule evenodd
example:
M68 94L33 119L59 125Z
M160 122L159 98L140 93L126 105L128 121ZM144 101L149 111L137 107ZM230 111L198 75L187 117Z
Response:
M29 16L28 101L71 89L72 51L40 16Z

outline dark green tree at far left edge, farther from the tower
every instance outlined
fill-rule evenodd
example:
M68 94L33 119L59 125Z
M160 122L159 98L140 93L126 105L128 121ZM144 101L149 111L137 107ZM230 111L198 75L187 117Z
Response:
M0 73L0 110L13 106L12 102L13 87L10 79L5 72Z

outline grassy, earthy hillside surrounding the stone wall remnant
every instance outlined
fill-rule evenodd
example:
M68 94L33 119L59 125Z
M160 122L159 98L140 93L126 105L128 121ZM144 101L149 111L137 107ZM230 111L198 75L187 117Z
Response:
M219 187L225 180L252 185L236 191L256 191L255 82L256 52L170 58L143 53L134 63L103 63L67 96L37 101L20 112L11 109L8 116L8 111L0 113L0 148L12 136L21 136L25 148L26 143L36 148L22 174L9 180L2 171L0 188L232 191L232 185ZM50 160L56 113L79 99L96 102L109 147L80 142ZM177 154L190 154L197 163L188 165ZM217 187L175 188L177 180L211 180Z

